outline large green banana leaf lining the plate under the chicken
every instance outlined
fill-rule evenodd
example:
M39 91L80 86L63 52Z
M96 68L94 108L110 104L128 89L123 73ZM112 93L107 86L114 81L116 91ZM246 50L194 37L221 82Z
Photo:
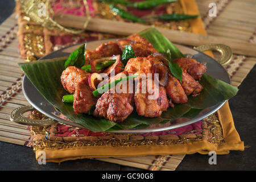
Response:
M139 33L139 35L148 39L159 52L164 53L165 50L170 49L174 57L184 56L174 44L154 28L145 30ZM114 123L108 119L96 118L92 115L75 114L71 104L62 102L62 97L68 94L60 81L61 73L65 69L64 63L67 59L68 57L59 57L32 63L20 63L19 67L22 68L28 79L49 103L69 119L94 132L141 129L149 125L154 125L155 123L166 123L171 119L179 117L193 118L201 110L228 100L238 92L238 89L234 86L204 74L200 80L200 84L203 85L204 90L199 96L189 96L187 103L175 104L174 108L169 107L160 117L155 118L141 117L136 111L133 111L124 122Z

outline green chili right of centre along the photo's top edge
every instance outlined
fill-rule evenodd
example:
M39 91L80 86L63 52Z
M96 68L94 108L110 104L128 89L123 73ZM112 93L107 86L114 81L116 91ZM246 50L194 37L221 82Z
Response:
M170 3L170 2L175 2L177 0L148 0L148 1L141 1L141 2L134 2L127 4L127 7L134 7L136 9L140 10L146 10L150 9L151 7L155 7L158 5L162 5L164 3Z

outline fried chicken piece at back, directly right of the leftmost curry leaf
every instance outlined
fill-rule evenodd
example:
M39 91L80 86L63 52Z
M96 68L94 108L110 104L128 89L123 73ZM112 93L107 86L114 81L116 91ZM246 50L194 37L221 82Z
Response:
M90 64L90 61L100 59L101 57L110 57L113 55L122 55L122 51L117 43L108 42L101 44L95 51L85 51L85 65Z

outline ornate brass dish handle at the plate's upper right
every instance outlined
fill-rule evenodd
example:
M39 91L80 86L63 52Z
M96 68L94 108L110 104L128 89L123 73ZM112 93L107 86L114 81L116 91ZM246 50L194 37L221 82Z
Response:
M198 47L194 47L198 51L218 51L221 53L221 58L218 59L218 63L222 66L228 64L233 57L232 49L224 44L207 44Z

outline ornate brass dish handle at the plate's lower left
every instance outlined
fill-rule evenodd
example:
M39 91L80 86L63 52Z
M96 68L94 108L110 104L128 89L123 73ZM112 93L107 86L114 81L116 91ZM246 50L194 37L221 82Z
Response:
M56 122L51 118L29 119L29 118L24 117L23 114L26 113L27 111L31 111L31 110L34 110L34 107L31 105L18 107L11 112L10 120L15 123L19 123L22 125L28 125L28 126L48 126L48 125L51 125Z

